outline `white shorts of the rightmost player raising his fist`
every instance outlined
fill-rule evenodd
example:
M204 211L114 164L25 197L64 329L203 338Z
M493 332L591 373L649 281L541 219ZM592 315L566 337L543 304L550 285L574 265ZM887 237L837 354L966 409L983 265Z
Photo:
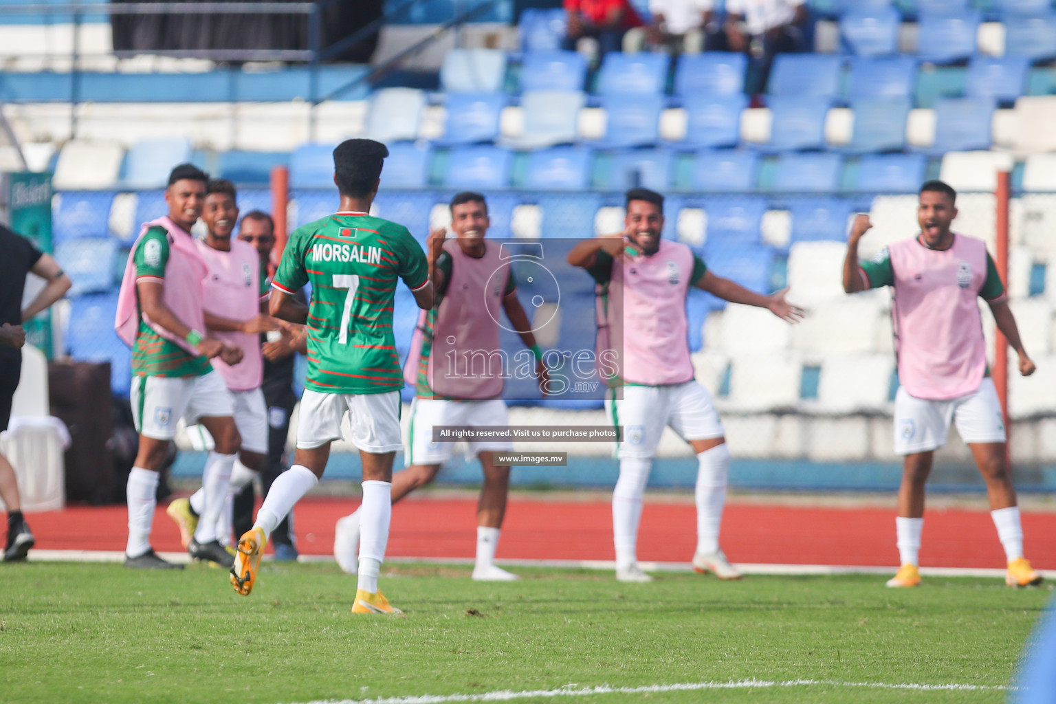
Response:
M985 377L975 393L947 401L894 396L894 454L911 455L946 444L950 423L965 442L1004 442L1004 416L994 380Z

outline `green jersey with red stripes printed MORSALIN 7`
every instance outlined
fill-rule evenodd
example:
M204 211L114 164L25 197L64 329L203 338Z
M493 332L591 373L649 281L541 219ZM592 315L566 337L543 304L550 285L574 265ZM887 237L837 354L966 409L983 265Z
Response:
M339 212L289 235L271 285L286 293L312 284L305 388L381 394L403 387L393 336L397 279L429 282L421 246L402 225Z

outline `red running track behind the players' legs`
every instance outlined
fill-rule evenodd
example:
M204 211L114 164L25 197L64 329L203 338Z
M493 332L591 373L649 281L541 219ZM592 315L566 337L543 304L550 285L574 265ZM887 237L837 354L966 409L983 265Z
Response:
M298 548L329 554L334 524L359 500L310 498L296 509ZM393 507L389 554L404 557L473 557L476 501L411 498ZM125 507L71 507L33 514L37 548L124 550ZM894 511L874 507L815 508L740 499L727 507L722 544L735 563L895 566ZM1035 567L1056 569L1056 513L1024 512L1026 556ZM180 551L178 532L161 506L154 548ZM687 562L696 545L691 503L647 502L639 558ZM511 497L498 546L499 558L612 559L607 501ZM988 512L937 509L927 513L921 564L925 567L1002 568L1004 553Z

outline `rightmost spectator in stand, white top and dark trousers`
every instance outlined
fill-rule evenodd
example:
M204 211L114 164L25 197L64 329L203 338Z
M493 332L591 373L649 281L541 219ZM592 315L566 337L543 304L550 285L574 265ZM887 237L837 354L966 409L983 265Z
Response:
M725 35L731 52L747 52L757 62L748 93L761 93L774 55L806 49L806 0L727 0Z

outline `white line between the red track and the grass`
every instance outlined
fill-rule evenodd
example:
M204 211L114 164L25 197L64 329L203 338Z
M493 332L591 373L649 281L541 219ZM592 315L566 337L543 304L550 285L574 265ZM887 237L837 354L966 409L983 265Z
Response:
M161 552L162 557L170 563L190 562L186 552ZM122 563L125 553L113 550L32 550L30 559L40 563ZM264 556L265 562L270 555ZM301 555L299 563L333 563L333 555ZM409 563L425 563L432 565L472 566L472 557L386 557L385 562L397 565ZM580 570L616 570L616 563L604 559L498 559L497 565L506 567L552 567L558 569ZM639 563L646 572L692 572L689 563ZM894 574L894 566L868 565L766 565L737 563L737 569L743 574L776 574L776 575L826 575L826 574ZM1003 569L984 567L922 567L921 574L931 577L1003 577ZM1038 574L1046 579L1056 579L1056 570L1038 570Z

